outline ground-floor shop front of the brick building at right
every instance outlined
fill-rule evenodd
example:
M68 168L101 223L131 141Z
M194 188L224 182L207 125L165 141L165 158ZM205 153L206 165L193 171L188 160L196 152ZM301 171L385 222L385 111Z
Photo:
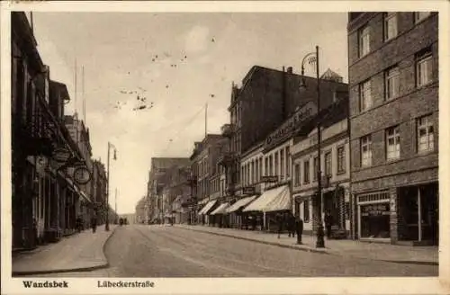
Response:
M392 244L437 245L437 182L362 192L355 198L357 237Z

